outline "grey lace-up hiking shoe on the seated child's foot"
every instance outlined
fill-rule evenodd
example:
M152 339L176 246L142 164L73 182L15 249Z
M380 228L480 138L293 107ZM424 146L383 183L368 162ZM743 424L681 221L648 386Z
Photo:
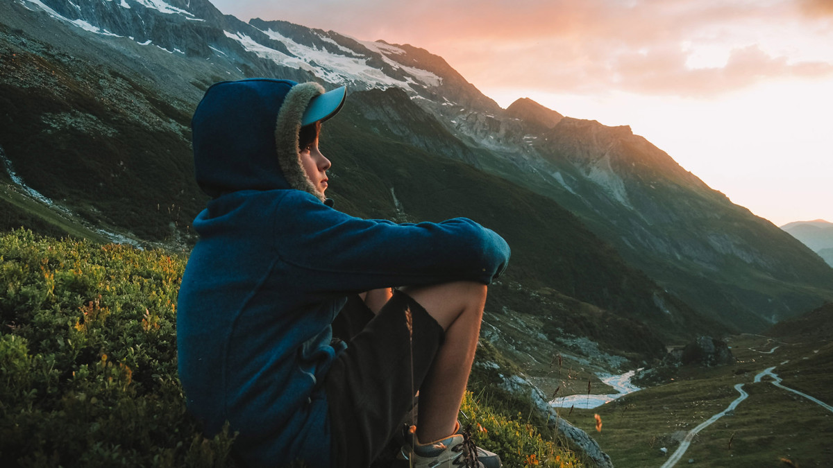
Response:
M393 462L392 468L456 468L466 463L466 437L462 434L454 434L431 445L412 446L405 444ZM486 451L468 442L473 449L472 455L476 455L477 468L501 468L501 457L491 451Z

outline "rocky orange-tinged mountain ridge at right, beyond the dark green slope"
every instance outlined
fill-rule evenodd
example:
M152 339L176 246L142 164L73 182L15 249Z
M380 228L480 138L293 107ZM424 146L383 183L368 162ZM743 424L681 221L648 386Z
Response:
M533 145L548 163L539 173L552 181L549 196L668 291L728 326L760 330L817 306L826 297L819 292L833 286L833 271L813 252L629 127L565 118Z

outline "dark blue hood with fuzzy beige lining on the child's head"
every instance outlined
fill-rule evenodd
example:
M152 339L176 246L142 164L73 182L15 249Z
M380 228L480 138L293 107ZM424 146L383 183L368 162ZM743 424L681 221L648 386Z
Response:
M298 131L315 82L252 78L209 87L191 120L197 184L210 197L294 188L324 197L301 165Z

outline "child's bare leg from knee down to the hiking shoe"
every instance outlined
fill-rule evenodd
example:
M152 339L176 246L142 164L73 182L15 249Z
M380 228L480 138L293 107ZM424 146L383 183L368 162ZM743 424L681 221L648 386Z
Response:
M446 331L445 341L420 387L416 438L423 443L451 436L480 335L486 286L459 281L404 287Z

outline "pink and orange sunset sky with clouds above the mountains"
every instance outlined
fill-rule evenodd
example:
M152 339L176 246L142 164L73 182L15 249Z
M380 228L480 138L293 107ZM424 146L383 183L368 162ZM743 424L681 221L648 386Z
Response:
M833 73L831 0L307 0L285 11L274 2L257 8L252 16L426 48L478 87L708 97ZM812 56L808 43L822 52L803 57ZM692 67L702 50L723 62Z

